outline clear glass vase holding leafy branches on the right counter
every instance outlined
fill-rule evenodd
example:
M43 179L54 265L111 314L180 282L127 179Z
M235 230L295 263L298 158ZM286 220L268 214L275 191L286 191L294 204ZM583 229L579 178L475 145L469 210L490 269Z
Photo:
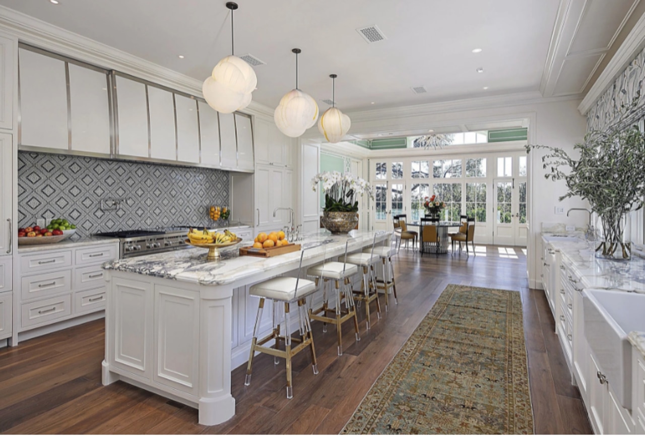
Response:
M631 259L631 216L629 212L599 214L596 222L599 238L596 242L596 258L615 261Z

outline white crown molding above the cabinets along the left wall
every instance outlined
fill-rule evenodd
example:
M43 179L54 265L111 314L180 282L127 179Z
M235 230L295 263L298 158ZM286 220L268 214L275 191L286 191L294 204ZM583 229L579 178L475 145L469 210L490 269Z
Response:
M106 70L117 70L185 92L202 96L202 81L146 61L123 50L99 43L94 39L75 34L45 21L0 6L0 30L17 36L21 43L37 46L50 52L72 57ZM252 101L244 112L273 116L272 108Z

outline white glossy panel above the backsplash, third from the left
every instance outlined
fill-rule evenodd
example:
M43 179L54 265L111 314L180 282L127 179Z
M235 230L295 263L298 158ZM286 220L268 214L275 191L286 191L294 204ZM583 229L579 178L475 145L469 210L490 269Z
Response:
M115 76L117 115L117 154L148 158L148 100L146 86L126 77Z

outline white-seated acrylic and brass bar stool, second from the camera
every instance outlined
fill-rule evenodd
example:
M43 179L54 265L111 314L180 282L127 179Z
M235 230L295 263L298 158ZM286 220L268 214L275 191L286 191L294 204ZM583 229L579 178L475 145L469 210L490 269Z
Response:
M350 247L352 238L348 238L345 243L345 254L347 256L347 249ZM323 258L324 259L324 258ZM308 276L315 278L316 287L322 286L323 288L323 303L317 309L309 309L310 320L318 320L323 322L323 332L327 332L327 323L336 325L336 333L338 338L338 354L342 355L342 329L341 325L344 321L354 320L354 329L356 340L361 340L359 334L359 320L356 316L356 307L353 300L353 291L350 278L358 272L358 267L355 264L338 261L323 261L320 264L313 265L307 270ZM335 306L329 307L329 296L327 294L327 283L333 281ZM342 303L345 304L345 309L341 309ZM328 314L331 314L328 315Z

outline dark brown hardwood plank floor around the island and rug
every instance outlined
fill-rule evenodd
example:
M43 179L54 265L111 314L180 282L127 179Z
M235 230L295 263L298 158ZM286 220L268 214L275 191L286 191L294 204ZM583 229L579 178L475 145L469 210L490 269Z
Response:
M399 305L365 330L345 329L336 354L333 327L313 322L319 374L307 353L293 362L293 399L285 398L284 363L261 354L253 380L232 372L236 415L221 425L197 424L197 411L118 381L101 385L103 320L0 349L0 432L6 434L337 434L363 396L449 283L520 290L535 432L591 434L577 388L571 385L553 317L542 290L528 289L520 248L478 247L477 256L393 257ZM375 304L373 304L375 305Z

